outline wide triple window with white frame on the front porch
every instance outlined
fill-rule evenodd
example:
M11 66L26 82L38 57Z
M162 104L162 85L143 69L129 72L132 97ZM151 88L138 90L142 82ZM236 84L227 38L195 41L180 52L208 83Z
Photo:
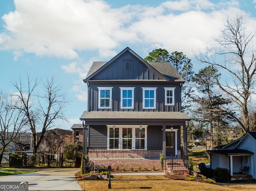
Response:
M113 127L108 128L109 149L146 149L145 127Z

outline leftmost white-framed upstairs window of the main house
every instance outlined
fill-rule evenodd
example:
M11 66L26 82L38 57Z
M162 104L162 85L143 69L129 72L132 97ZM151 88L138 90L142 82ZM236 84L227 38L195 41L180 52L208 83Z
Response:
M99 90L98 108L99 109L104 109L104 108L111 109L112 88L113 87L98 87L98 90Z

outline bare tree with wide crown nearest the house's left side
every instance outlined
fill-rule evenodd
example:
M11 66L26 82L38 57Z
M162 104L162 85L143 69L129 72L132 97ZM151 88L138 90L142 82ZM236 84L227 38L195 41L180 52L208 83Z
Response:
M31 79L30 76L27 76L25 87L21 78L13 85L18 91L18 94L14 94L14 96L17 97L21 105L18 109L28 119L28 125L32 132L33 154L36 154L46 131L57 125L59 120L66 120L64 108L69 101L61 94L61 87L56 86L54 78L42 82L43 88L40 87L37 79ZM44 93L38 93L42 90ZM38 132L40 132L40 136L37 138Z

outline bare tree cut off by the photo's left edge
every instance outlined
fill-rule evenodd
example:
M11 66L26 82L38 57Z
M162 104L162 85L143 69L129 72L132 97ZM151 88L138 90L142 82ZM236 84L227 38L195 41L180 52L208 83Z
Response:
M18 105L17 100L0 93L0 164L4 151L11 148L13 141L26 132L27 118L20 110L15 109Z

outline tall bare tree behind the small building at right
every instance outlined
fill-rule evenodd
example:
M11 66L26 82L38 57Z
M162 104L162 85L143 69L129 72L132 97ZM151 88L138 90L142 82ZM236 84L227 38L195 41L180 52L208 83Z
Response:
M216 78L215 84L235 104L234 108L242 119L234 113L227 114L233 117L245 132L256 130L255 125L250 126L251 115L256 111L248 111L248 103L252 94L255 94L256 58L252 49L255 35L255 32L247 31L242 15L228 18L221 36L214 38L220 47L216 50L208 48L205 55L200 53L197 56L200 62L222 71L224 78Z

